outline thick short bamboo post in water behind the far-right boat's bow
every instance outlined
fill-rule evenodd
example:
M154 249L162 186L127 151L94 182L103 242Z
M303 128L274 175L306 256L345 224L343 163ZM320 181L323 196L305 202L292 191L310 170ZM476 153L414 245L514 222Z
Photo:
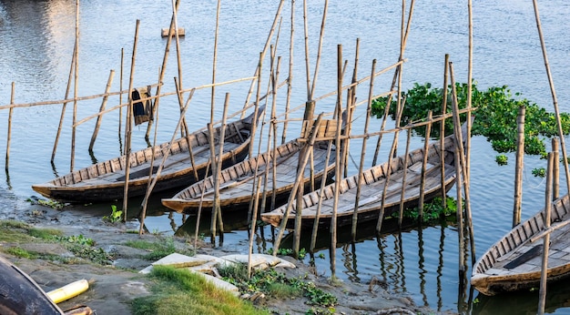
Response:
M524 112L526 107L518 107L518 117L516 117L517 138L516 138L516 162L514 166L514 208L513 208L513 228L521 223L521 212L523 210L523 168L524 168Z

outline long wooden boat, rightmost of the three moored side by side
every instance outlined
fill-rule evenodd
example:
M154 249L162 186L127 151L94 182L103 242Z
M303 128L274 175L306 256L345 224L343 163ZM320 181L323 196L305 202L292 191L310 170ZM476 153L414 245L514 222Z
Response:
M442 187L441 178L441 159L440 159L440 141L432 143L428 147L428 157L425 172L424 200L430 200L442 194L442 189L448 191L453 187L455 182L455 140L454 136L445 137L444 139L444 169L445 183ZM412 207L417 204L420 198L420 183L422 176L422 161L424 157L423 148L413 150L408 154L408 163L404 167L405 157L401 156L392 159L391 176L388 183L384 214L391 215L395 209L400 207L400 203L404 203L405 207ZM405 195L401 199L402 178L404 172L407 172L405 182ZM361 183L361 198L358 207L358 221L365 222L377 219L382 208L382 191L386 185L388 174L388 162L363 171L363 182ZM358 174L341 180L341 188L339 191L339 203L337 205L337 227L351 225L352 215L354 212L354 200L356 197ZM321 227L331 226L334 183L326 186L322 193L322 205L320 225ZM321 191L317 189L303 196L303 208L301 211L301 225L303 227L312 227ZM293 227L296 212L296 202L290 210L286 227ZM284 217L287 205L276 208L273 211L262 213L261 219L270 223L275 227L280 227L281 220Z

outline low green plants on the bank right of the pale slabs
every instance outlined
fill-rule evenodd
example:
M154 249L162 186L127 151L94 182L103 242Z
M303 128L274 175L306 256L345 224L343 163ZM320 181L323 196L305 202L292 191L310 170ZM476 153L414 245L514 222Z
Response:
M287 278L284 273L275 269L252 270L248 279L248 267L245 264L232 264L219 268L219 274L229 283L237 286L242 293L263 292L277 299L290 299L304 296L309 299L308 304L315 307L326 308L326 311L337 304L337 298L315 286L309 279ZM320 310L312 308L316 313Z

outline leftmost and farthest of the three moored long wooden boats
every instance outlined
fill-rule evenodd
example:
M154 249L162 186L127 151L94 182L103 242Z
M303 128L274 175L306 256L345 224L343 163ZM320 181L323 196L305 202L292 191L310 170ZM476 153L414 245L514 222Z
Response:
M263 108L260 108L258 118L262 112ZM242 161L248 155L252 123L253 114L226 125L222 155L223 168ZM221 131L221 127L214 128L217 152ZM153 174L157 172L168 144L168 142L163 143L155 148ZM188 144L192 149L191 156L194 158L194 166L191 163ZM130 154L128 197L142 196L146 193L152 152L153 148L147 147ZM198 178L203 178L209 158L209 132L207 130L178 138L168 152L168 159L153 191L188 186L196 181L194 169L198 172ZM127 156L123 155L76 170L47 183L33 185L32 188L47 198L64 202L84 203L120 199L124 196L126 160Z

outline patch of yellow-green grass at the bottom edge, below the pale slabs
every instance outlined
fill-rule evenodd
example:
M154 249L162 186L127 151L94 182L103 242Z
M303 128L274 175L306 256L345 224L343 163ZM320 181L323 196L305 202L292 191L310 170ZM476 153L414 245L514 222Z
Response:
M153 295L133 301L136 315L269 314L187 269L155 266L150 277L155 283Z

